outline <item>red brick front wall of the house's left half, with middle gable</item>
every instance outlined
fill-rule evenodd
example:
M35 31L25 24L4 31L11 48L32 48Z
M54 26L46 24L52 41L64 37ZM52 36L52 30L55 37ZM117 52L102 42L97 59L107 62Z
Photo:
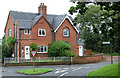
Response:
M46 36L38 36L38 29L46 29ZM21 30L21 51L25 46L29 46L31 43L36 43L38 46L47 46L52 43L52 28L49 26L44 18L41 18L30 30L30 35L25 35L24 30ZM24 57L24 52L21 52L21 56ZM48 53L37 53L37 56L48 56Z

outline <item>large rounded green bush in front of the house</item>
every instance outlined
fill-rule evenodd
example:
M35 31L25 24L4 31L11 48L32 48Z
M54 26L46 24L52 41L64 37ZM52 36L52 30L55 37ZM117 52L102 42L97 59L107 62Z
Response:
M48 52L50 57L71 57L75 54L71 53L71 45L63 41L55 41L49 44Z

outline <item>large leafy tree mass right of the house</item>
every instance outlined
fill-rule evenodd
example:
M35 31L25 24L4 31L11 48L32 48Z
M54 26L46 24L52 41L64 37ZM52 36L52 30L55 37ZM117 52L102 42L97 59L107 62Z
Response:
M73 3L77 2L77 4L70 8L69 13L71 15L77 14L73 22L74 25L79 25L82 33L80 37L85 42L86 48L98 46L102 50L102 42L110 41L113 45L113 50L119 52L120 2L71 1ZM94 7L88 7L89 3L92 3Z

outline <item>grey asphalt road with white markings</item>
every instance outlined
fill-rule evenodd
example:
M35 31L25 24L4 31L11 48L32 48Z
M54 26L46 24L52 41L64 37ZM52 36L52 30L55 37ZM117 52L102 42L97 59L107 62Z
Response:
M116 62L114 62L116 63ZM36 66L36 68L50 68L53 71L34 76L56 76L60 78L62 76L87 76L90 71L98 69L102 66L108 65L110 62L99 62L91 64L76 64L76 65L50 65L50 66ZM3 67L2 76L28 76L24 74L16 73L17 70L31 69L32 66L13 66L13 67Z

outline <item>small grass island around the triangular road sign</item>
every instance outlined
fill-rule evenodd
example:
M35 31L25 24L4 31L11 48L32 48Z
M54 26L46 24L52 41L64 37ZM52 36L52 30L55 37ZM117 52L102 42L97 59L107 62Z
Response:
M26 75L37 75L37 74L43 74L52 71L52 69L46 69L46 68L40 68L35 69L35 72L33 72L33 69L25 69L25 70L19 70L18 73L26 74Z

